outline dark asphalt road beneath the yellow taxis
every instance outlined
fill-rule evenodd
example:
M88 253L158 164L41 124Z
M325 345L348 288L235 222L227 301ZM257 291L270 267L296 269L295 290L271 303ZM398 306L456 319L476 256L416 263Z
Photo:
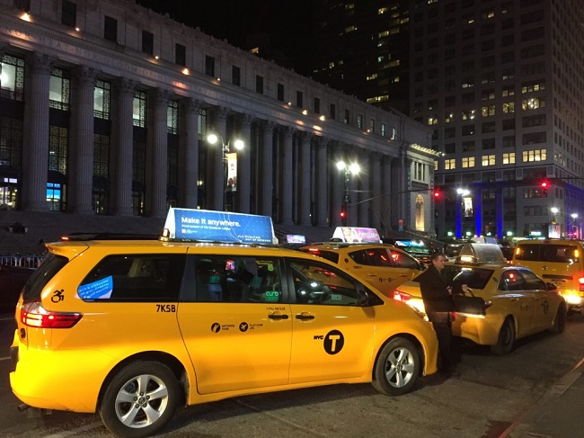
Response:
M0 316L0 436L111 436L97 415L19 412L7 359L13 318ZM584 317L562 335L535 335L507 356L465 346L460 377L424 378L411 394L388 398L368 384L337 385L183 407L163 437L513 437L510 426L584 357ZM569 438L569 437L566 437Z

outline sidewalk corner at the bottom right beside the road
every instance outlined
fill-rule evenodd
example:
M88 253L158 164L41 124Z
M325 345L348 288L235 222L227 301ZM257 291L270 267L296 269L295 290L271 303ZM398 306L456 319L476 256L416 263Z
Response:
M578 438L584 436L584 359L562 377L499 438Z

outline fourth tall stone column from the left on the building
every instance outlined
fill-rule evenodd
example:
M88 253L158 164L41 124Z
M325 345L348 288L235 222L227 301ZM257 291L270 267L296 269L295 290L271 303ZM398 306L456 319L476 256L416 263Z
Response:
M146 194L150 201L149 216L152 218L166 217L166 186L168 185L168 99L170 92L156 88L149 94L152 98L153 117L152 134L148 135L150 150L149 159L146 159L146 168L150 175L146 175Z

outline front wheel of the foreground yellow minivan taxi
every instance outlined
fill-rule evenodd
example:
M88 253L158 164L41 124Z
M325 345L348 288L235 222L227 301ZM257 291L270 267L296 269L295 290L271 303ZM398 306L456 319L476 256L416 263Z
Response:
M395 338L385 344L373 371L373 387L387 396L409 392L420 375L420 353L411 341Z

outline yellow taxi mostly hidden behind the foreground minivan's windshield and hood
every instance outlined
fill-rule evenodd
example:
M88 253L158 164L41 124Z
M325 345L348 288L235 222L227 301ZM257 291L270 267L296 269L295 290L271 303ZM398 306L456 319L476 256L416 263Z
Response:
M327 242L299 248L364 277L385 296L425 269L423 264L402 249L374 243Z

